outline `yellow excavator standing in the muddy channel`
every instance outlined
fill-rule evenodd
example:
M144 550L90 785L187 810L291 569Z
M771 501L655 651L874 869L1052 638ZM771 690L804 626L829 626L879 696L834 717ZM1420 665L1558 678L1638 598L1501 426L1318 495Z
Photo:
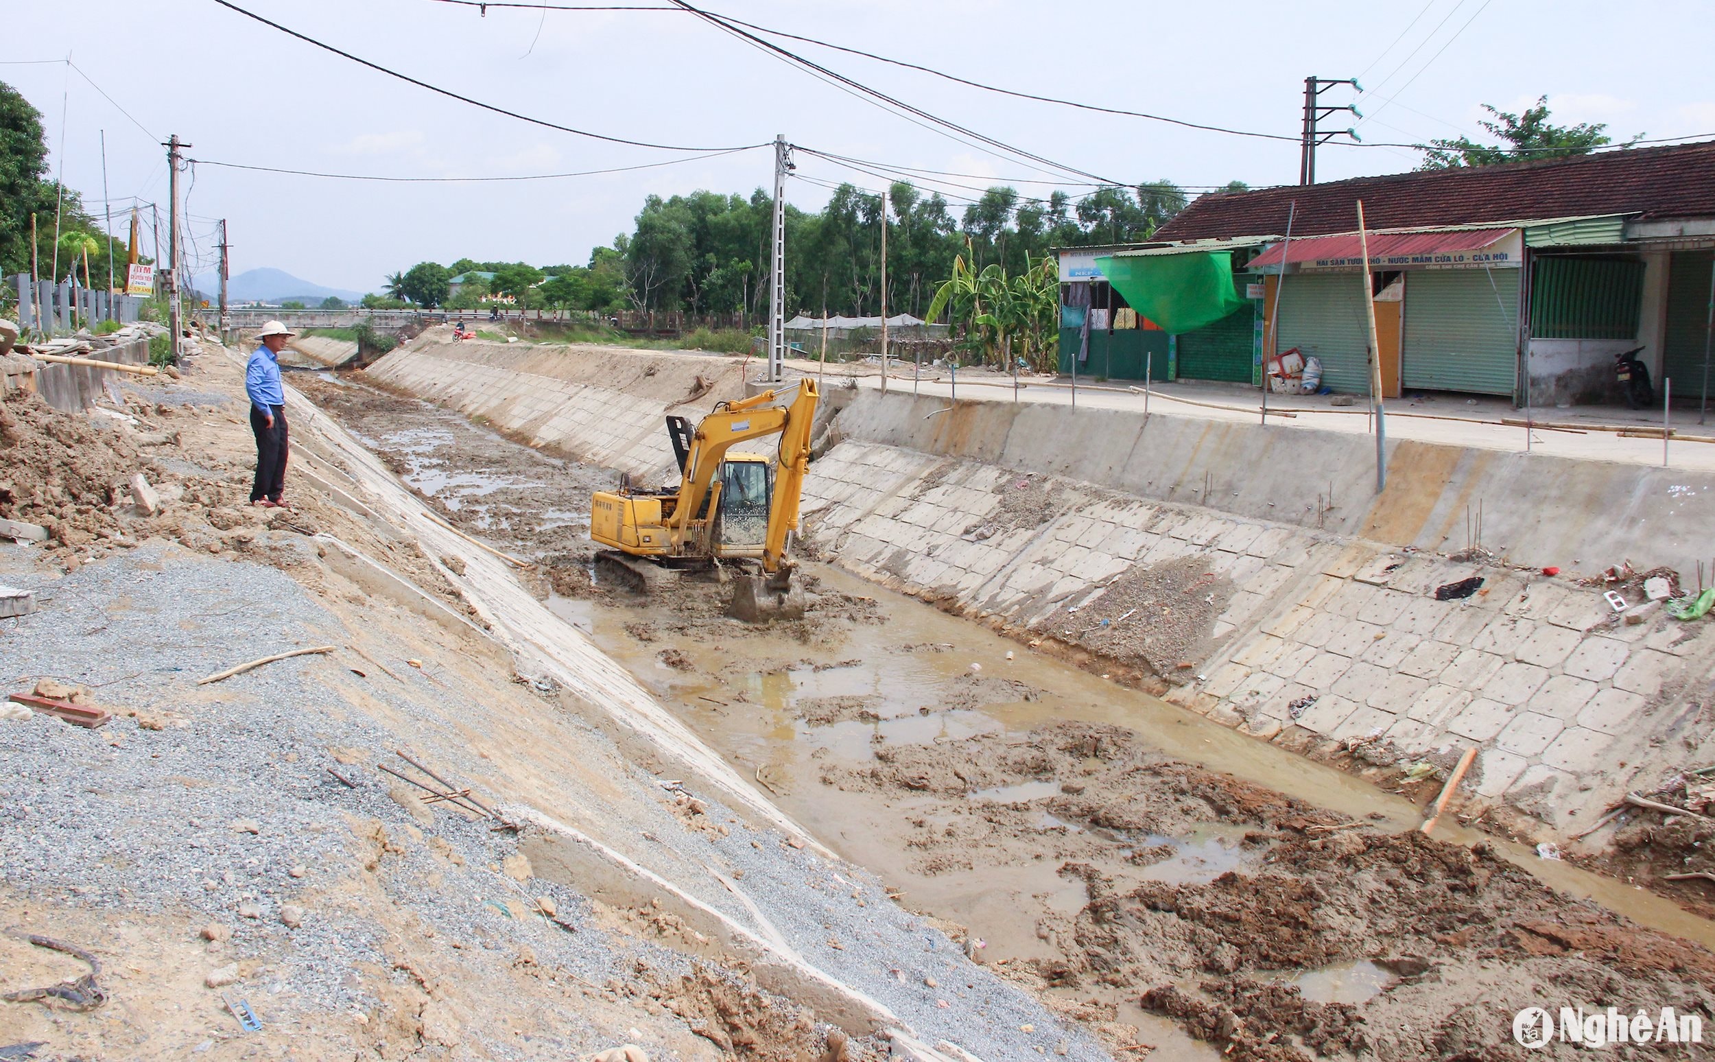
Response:
M623 475L617 491L595 492L590 539L609 547L595 554L597 580L650 592L681 571L715 568L732 578L732 616L801 618L804 588L792 578L789 551L818 398L816 381L806 377L722 401L695 429L684 417L667 417L679 486L641 487ZM732 451L772 434L780 436L773 458Z

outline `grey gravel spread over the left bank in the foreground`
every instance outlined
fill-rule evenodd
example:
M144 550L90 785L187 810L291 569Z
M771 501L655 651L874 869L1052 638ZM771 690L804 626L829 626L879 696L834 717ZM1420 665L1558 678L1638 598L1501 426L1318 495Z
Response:
M276 1012L369 1009L376 1000L350 971L384 964L386 932L355 899L326 901L372 858L374 846L348 825L355 815L379 820L400 849L381 858L389 897L448 940L478 942L506 964L528 940L540 962L597 985L629 975L638 957L689 969L676 952L590 926L588 902L569 889L487 870L516 851L516 839L485 822L436 812L434 836L466 865L437 875L446 861L406 841L412 818L381 775L340 767L358 782L350 789L326 770L333 746L379 751L398 743L360 715L338 717L346 709L329 703L322 676L343 664L281 661L202 688L218 690L218 700L190 700L197 678L233 662L340 640L338 621L280 571L142 547L58 580L7 582L34 588L39 600L38 612L7 621L12 630L0 635L7 691L48 676L91 686L105 707L139 712L94 731L45 715L0 719L0 878L9 885L115 914L151 909L225 923L235 930L232 945L211 968L269 959L262 988L283 993L271 1002ZM187 618L199 626L187 631ZM376 695L401 714L420 710L379 688ZM504 909L506 901L533 906L539 896L552 896L557 918L580 932L520 923ZM247 904L257 916L240 914ZM285 904L305 908L298 928L280 921Z

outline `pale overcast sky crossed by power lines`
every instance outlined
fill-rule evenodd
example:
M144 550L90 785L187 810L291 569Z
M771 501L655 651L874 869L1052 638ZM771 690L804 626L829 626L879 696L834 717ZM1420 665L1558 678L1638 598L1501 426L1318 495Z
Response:
M559 125L689 148L789 141L888 166L1012 180L1087 180L995 158L888 115L677 12L535 12L441 0L235 0L298 33L441 87ZM667 0L561 0L665 3ZM1027 3L1022 0L700 0L712 10L1003 87L1297 137L1303 77L1351 77L1365 141L1478 134L1482 103L1547 94L1556 120L1648 137L1715 134L1706 0L1405 0L1396 5ZM190 158L393 177L494 177L684 158L585 139L477 110L394 81L213 0L7 5L0 79L45 117L53 165L99 208L101 144L117 209L166 202L158 139ZM125 112L58 60L72 62ZM912 106L1086 173L1170 178L1187 189L1293 184L1297 142L1096 115L969 89L868 58L782 41ZM63 103L63 129L62 129ZM135 122L132 120L135 118ZM1336 115L1333 124L1357 122ZM60 139L63 134L63 156ZM1324 148L1319 178L1410 170L1399 148ZM876 177L799 158L818 180ZM226 218L233 273L276 266L372 290L434 259L583 262L631 226L643 196L772 182L767 149L602 177L516 184L365 184L209 165L185 175L190 233L213 257ZM928 187L928 185L926 185ZM1041 194L1050 184L1017 184ZM943 189L952 196L974 192ZM1068 192L1087 190L1068 185ZM787 184L818 209L827 190ZM954 201L954 208L962 204ZM99 214L99 209L96 209ZM115 221L123 232L123 225Z

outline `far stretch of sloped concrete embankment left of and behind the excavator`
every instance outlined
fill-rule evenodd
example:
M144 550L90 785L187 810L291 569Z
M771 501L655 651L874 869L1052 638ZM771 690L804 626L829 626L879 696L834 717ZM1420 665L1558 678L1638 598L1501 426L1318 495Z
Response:
M429 336L388 353L369 376L532 446L650 482L674 467L667 413L696 420L715 401L744 396L741 359Z

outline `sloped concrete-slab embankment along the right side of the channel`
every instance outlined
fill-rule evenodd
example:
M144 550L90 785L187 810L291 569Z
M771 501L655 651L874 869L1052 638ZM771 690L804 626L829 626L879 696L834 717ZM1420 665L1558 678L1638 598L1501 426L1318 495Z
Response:
M547 355L576 383L520 371L542 357L394 353L372 372L583 460L671 460L664 395L623 388L653 381L633 359L676 355ZM1293 748L1446 767L1477 745L1477 794L1562 834L1703 762L1712 640L1658 609L1621 623L1574 575L1691 571L1715 477L1406 441L1377 499L1365 436L943 407L852 396L806 482L811 549ZM1518 566L1446 556L1478 508L1482 544ZM1473 575L1477 594L1435 599Z

